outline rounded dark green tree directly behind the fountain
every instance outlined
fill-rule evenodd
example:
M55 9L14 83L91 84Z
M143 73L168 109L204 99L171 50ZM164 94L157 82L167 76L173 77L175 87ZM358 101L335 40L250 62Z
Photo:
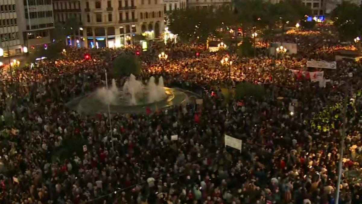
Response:
M121 55L112 62L112 73L115 76L135 76L141 73L141 63L136 56Z

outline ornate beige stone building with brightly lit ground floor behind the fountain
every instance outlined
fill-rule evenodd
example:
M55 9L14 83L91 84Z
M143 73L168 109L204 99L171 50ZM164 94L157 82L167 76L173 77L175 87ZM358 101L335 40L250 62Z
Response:
M81 23L71 45L119 47L136 34L158 37L164 29L161 0L54 0L53 6L55 22L76 17Z

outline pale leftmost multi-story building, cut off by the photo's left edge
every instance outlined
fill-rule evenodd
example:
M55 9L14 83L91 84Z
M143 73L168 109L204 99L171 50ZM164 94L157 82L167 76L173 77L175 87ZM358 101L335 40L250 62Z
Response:
M0 0L0 56L21 54L23 42L16 9L15 0Z

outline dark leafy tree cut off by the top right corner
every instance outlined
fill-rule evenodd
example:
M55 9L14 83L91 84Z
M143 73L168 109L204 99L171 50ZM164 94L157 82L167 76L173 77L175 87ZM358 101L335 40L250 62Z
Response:
M362 6L342 1L331 13L342 40L353 40L362 33Z

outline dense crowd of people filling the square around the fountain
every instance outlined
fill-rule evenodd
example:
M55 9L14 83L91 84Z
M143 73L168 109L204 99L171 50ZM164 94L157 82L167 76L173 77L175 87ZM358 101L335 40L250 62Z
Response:
M340 203L362 203L361 63L324 70L326 87L291 72L305 70L308 59L330 58L323 50L338 42L325 36L282 36L298 41L298 54L286 58L228 53L230 67L220 63L225 54L184 44L168 48L160 64L154 45L139 56L138 78L162 75L166 86L199 93L203 104L114 113L113 130L106 114L80 114L66 103L104 86L110 59L137 47L69 48L62 59L2 72L0 202L332 204L342 157ZM222 91L229 81L258 83L266 94L229 100ZM345 98L340 155L343 108L329 107ZM329 130L319 128L326 123ZM243 140L242 150L225 147L225 134Z

